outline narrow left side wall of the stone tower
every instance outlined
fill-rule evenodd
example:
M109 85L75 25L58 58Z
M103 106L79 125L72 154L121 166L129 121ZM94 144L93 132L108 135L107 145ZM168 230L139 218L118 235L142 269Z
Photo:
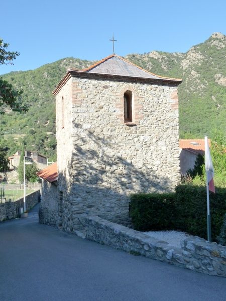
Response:
M56 139L59 202L58 226L60 225L61 227L61 224L63 224L63 229L68 232L73 230L73 205L71 193L73 177L71 171L73 156L72 121L74 117L72 113L71 81L72 80L69 79L56 96Z

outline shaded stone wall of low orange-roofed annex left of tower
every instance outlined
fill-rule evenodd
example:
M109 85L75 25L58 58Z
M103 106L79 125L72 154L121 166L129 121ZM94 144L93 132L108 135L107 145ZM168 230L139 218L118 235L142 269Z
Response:
M42 199L39 208L39 222L56 226L58 221L57 186L42 179Z

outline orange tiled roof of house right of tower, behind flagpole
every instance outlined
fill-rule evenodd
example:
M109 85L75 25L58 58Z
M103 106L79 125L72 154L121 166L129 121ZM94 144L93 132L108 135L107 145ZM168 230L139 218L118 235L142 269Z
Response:
M208 139L208 144L210 146L210 139ZM205 141L204 139L180 139L180 148L187 150L195 155L205 154Z

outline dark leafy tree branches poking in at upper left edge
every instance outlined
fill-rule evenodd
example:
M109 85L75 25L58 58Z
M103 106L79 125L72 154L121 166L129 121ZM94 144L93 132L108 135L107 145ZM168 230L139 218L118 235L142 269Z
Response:
M12 61L19 56L19 52L7 51L9 44L4 43L0 38L0 65L13 64ZM26 112L27 106L23 104L22 95L23 90L16 90L13 86L0 77L0 114L5 113L6 107L10 107L16 112Z

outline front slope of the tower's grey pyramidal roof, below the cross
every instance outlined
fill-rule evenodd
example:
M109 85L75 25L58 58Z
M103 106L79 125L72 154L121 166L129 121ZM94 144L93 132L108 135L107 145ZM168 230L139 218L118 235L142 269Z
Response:
M154 79L171 79L181 81L181 79L162 77L160 75L151 73L116 54L112 54L102 59L101 61L95 63L94 65L82 69L82 71L90 73L103 73L111 75L133 76Z

